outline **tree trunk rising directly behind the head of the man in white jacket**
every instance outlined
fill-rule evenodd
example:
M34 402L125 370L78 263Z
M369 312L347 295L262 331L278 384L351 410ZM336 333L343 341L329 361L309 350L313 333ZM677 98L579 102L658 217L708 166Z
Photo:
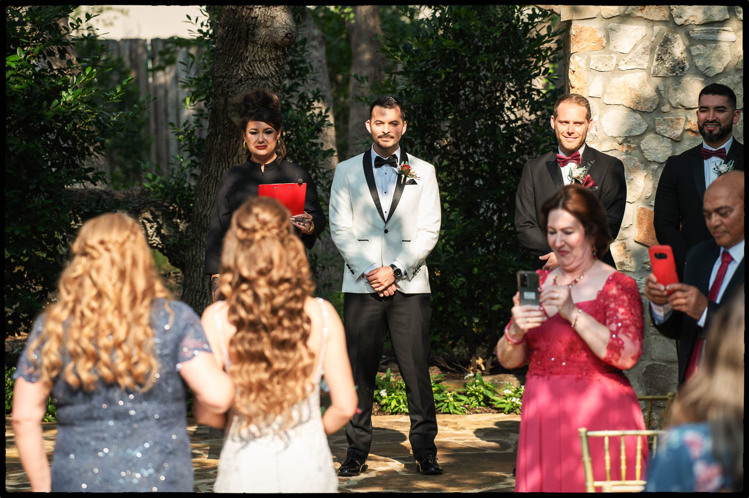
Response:
M369 119L369 103L360 103L357 97L369 97L374 82L385 77L385 56L378 52L382 35L380 13L377 5L357 5L354 7L354 22L347 23L348 36L351 40L351 73L366 76L365 85L355 78L348 84L348 157L361 154L371 142L364 123Z

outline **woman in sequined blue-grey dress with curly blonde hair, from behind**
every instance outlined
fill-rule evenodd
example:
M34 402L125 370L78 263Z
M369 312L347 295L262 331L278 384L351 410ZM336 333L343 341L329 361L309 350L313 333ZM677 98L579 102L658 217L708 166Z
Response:
M169 300L142 229L115 213L83 224L14 377L13 431L32 491L192 491L184 382L198 416L234 397L198 315ZM40 425L50 392L51 471Z

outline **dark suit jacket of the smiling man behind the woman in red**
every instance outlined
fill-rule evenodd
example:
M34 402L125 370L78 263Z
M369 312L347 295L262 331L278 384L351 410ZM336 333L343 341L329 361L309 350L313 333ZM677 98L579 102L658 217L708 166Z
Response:
M596 151L589 145L583 151L582 164L589 168L597 189L593 193L603 204L612 239L616 239L622 226L624 208L627 204L627 183L624 179L624 164L616 157ZM523 174L515 195L515 230L518 240L538 258L551 252L546 234L541 230L541 207L564 186L562 169L557 163L557 151L544 154L525 163ZM599 256L604 263L614 266L611 252ZM536 259L539 268L544 261Z

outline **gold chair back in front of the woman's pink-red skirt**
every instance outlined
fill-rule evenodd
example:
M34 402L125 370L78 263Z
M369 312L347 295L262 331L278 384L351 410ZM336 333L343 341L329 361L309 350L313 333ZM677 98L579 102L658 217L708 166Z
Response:
M585 491L595 493L595 488L601 488L604 493L637 493L645 489L646 481L640 479L642 475L642 437L653 437L652 455L655 455L655 449L658 445L658 436L664 434L664 431L588 431L581 427L577 429L580 435L580 446L583 455L583 471L585 473ZM604 464L606 469L606 479L596 481L593 476L593 465L590 459L590 447L588 445L589 437L604 438ZM621 479L611 479L611 454L609 449L609 438L619 437L619 470ZM627 477L627 458L625 452L625 437L637 437L637 449L634 463L634 479Z

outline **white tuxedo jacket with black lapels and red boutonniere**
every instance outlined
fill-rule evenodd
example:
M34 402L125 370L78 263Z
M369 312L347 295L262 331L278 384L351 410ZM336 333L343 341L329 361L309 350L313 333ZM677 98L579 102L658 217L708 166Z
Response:
M383 215L372 171L372 148L336 166L330 190L330 233L345 261L343 292L369 294L375 290L360 279L373 263L389 266L397 259L406 270L395 279L404 294L428 293L425 263L440 234L440 190L434 166L406 154L402 158L419 177L398 175L388 218Z

